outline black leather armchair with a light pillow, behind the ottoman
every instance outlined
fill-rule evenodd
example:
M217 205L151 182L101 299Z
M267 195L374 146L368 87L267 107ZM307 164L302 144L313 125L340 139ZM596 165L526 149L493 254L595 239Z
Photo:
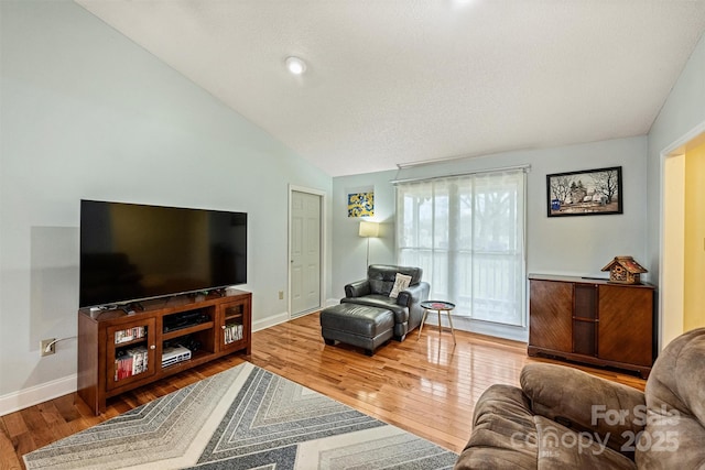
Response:
M397 273L411 276L411 283L397 298L389 296ZM421 325L421 303L429 299L429 283L421 281L421 267L370 264L367 278L345 286L345 298L340 304L357 304L387 308L394 314L394 339L403 341L406 335Z

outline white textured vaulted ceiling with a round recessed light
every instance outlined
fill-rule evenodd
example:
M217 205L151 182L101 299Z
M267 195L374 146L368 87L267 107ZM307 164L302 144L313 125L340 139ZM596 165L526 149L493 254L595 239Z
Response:
M76 1L332 176L647 134L705 31L701 0Z

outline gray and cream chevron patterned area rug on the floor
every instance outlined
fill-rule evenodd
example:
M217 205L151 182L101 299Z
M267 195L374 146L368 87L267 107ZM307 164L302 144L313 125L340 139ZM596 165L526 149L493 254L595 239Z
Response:
M24 456L28 469L452 469L457 455L249 362Z

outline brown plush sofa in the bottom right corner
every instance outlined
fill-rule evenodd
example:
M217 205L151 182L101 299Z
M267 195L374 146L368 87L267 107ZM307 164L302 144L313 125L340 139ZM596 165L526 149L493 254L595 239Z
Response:
M705 328L666 346L643 393L544 363L520 382L480 396L457 470L705 468Z

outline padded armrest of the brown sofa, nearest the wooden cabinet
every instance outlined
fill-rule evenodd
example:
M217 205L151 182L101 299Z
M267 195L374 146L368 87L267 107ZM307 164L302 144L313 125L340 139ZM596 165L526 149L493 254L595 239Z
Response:
M597 434L607 446L630 453L646 425L643 393L565 365L527 364L521 389L534 414L578 433Z

